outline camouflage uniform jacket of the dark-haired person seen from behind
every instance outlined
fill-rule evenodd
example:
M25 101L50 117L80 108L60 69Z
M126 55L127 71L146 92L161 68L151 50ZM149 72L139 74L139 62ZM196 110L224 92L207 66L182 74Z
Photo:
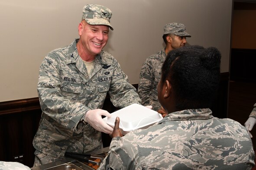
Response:
M148 129L113 138L100 170L251 169L255 154L245 127L211 114L210 109L182 110Z

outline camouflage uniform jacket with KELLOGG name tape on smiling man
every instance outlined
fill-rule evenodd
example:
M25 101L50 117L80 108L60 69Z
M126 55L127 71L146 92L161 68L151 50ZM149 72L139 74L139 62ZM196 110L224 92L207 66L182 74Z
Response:
M88 110L103 107L107 93L115 107L141 103L136 88L111 54L98 54L88 75L77 42L51 51L39 69L37 90L42 116L33 145L52 157L101 147L101 133L81 120Z

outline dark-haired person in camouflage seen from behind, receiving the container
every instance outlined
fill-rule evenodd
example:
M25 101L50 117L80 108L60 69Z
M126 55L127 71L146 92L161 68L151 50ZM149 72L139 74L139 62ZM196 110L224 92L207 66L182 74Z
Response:
M157 87L169 114L123 137L117 118L98 170L251 170L255 153L246 128L209 109L219 86L220 58L214 47L170 51Z

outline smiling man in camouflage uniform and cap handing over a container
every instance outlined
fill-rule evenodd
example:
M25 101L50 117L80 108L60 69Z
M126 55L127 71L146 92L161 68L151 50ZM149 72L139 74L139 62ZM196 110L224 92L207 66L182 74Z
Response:
M102 147L101 132L113 128L101 116L107 93L115 107L140 104L117 60L102 51L107 44L112 13L105 6L84 6L79 39L52 50L39 69L37 86L42 117L33 140L35 164L64 158L65 152L85 153Z

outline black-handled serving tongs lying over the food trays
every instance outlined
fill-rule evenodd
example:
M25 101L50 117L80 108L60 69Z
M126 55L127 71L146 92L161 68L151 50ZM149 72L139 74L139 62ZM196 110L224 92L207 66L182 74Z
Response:
M100 163L104 159L104 156L101 156L101 155L81 154L81 153L75 153L75 152L66 152L65 157L73 158L78 161L87 162L87 163L95 164L98 166L100 166ZM100 159L100 162L92 161L89 158Z

